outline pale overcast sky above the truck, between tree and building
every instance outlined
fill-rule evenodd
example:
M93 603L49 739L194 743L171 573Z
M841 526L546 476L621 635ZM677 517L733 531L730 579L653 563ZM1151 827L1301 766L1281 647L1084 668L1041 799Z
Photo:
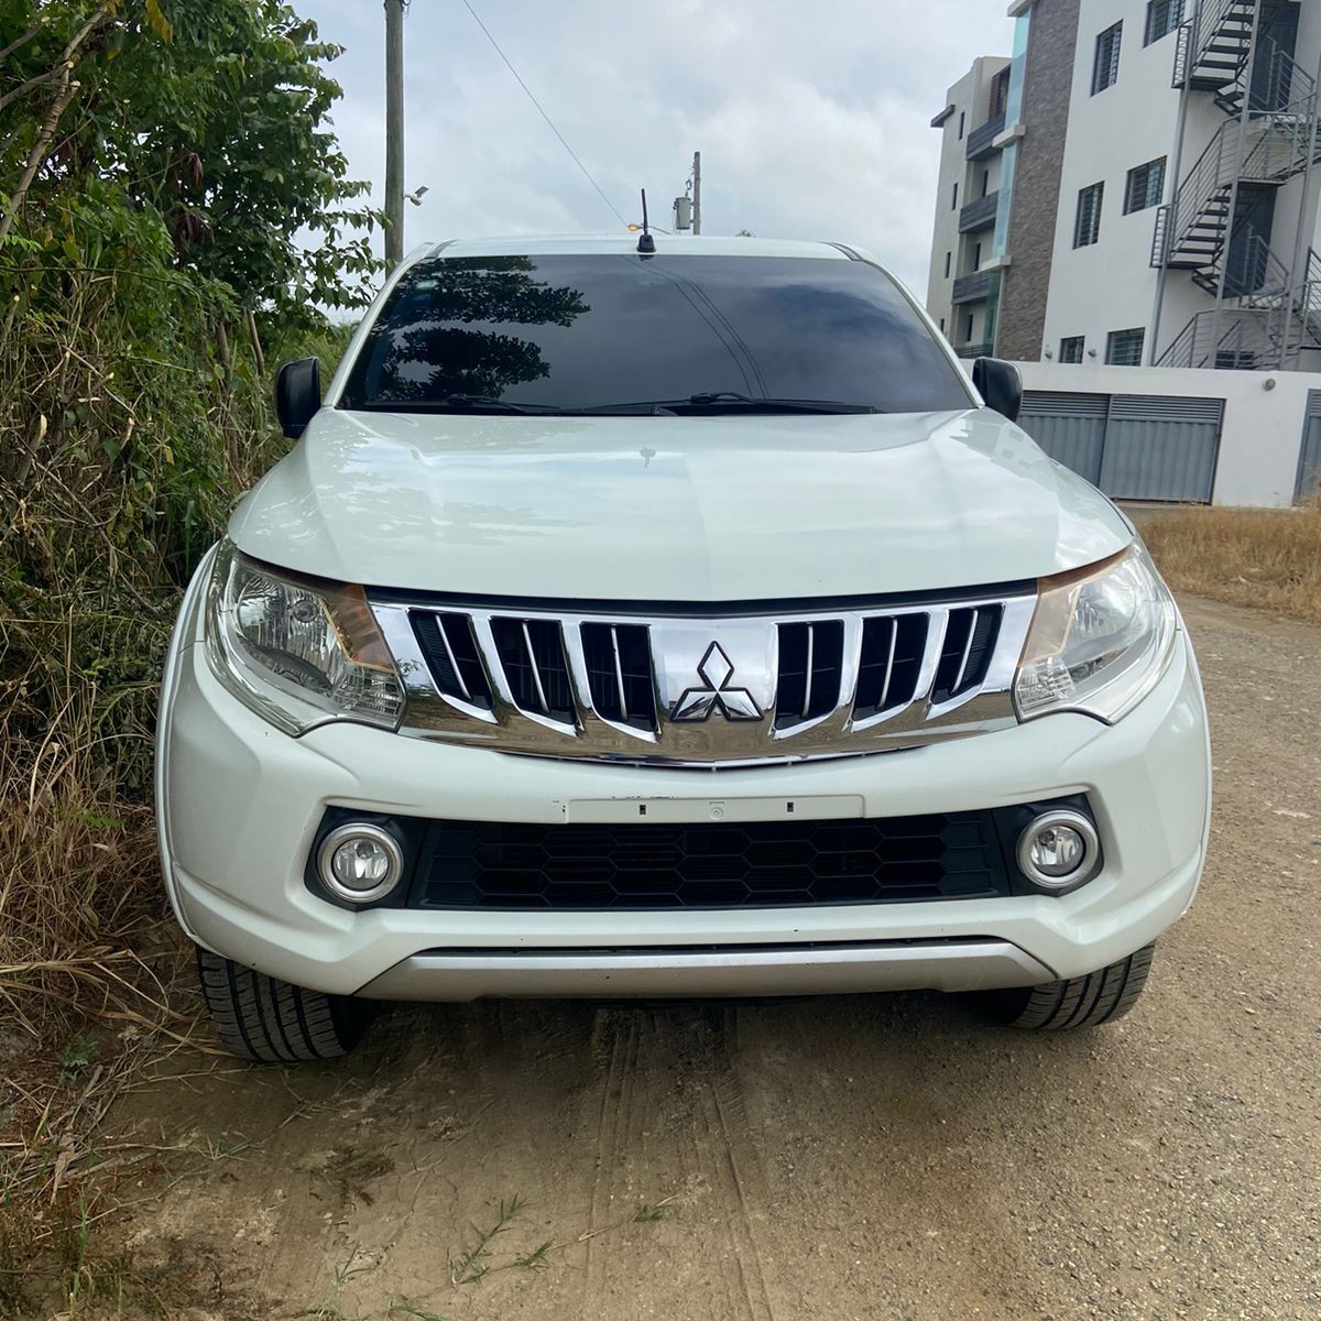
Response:
M354 174L384 181L379 0L295 0L345 98ZM979 54L1008 54L1005 0L472 0L625 219L670 226L694 151L703 231L860 243L926 289L939 132L931 116ZM404 20L406 206L416 243L617 230L464 0Z

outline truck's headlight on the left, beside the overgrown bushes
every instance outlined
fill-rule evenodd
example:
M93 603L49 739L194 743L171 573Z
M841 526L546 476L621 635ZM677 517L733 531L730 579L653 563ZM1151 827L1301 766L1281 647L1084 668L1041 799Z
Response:
M276 573L222 542L207 605L217 678L287 733L328 720L399 723L399 674L361 587Z

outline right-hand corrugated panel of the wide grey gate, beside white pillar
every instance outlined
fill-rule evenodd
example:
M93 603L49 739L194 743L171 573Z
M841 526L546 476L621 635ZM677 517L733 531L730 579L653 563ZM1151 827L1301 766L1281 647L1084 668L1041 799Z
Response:
M1114 395L1096 485L1112 499L1209 503L1223 413L1222 399Z

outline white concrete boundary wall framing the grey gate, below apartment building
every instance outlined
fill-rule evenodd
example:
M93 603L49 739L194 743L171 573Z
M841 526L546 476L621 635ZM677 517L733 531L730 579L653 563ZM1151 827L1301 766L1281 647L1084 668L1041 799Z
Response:
M1190 395L1225 400L1214 505L1293 503L1310 371L1173 371L1168 367L1061 366L1020 362L1026 390L1102 395ZM1267 388L1267 383L1271 388Z

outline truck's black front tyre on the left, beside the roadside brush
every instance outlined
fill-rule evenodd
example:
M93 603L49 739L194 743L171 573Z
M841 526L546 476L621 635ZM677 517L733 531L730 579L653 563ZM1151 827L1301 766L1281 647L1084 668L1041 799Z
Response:
M371 1005L277 982L198 946L197 974L226 1050L259 1063L347 1054L371 1022Z

